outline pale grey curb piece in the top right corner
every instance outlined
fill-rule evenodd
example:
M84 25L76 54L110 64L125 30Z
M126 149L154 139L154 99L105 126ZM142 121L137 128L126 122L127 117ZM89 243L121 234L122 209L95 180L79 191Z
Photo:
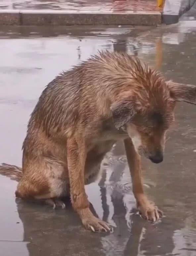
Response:
M173 24L179 21L182 14L187 12L196 0L165 0L163 8L163 23Z

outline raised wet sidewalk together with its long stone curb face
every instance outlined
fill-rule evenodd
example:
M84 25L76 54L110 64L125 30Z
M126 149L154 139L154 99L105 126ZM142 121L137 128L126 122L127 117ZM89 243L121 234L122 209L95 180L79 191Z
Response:
M157 25L157 0L2 0L0 25Z

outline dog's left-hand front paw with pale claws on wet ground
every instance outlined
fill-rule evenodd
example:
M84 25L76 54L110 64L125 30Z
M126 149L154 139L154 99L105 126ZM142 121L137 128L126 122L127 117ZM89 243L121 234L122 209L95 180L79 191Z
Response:
M105 221L102 221L94 216L82 219L82 223L86 229L93 232L110 232L113 231L113 227Z

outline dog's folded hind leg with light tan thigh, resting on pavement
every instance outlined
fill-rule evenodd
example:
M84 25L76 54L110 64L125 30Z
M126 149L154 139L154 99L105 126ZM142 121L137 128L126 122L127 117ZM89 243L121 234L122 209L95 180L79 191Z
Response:
M17 197L44 201L53 209L56 207L65 209L61 197L68 194L64 165L59 161L48 159L43 159L41 163L36 162L34 165L31 163L31 169L24 171L16 190Z

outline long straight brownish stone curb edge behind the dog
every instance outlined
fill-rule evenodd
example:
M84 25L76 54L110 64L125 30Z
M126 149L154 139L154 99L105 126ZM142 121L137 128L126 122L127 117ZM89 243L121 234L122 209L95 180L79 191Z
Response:
M160 12L95 12L51 10L0 10L0 25L160 25Z

